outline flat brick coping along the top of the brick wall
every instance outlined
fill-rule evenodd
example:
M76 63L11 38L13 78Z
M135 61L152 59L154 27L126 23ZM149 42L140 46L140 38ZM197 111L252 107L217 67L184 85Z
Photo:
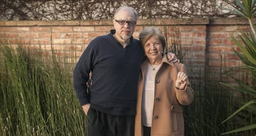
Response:
M256 22L256 19L255 19ZM246 18L177 18L177 19L144 19L137 25L233 25L248 24ZM25 20L0 21L0 26L92 26L113 25L111 20Z

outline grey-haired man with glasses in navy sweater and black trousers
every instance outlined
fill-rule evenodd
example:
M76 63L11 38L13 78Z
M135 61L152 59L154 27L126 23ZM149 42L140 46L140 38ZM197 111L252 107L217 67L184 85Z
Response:
M93 39L75 66L74 89L87 114L88 136L134 135L137 81L145 59L140 42L132 38L136 22L132 7L119 7L115 30Z

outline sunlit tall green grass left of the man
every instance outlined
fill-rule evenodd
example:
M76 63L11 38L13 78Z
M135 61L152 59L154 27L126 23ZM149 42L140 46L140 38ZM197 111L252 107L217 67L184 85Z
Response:
M72 87L74 64L42 50L0 48L0 134L85 135Z

